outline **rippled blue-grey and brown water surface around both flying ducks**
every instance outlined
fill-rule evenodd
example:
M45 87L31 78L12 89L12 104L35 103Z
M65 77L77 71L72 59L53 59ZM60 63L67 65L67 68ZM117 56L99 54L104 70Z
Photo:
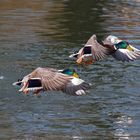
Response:
M140 139L140 60L68 58L92 34L140 46L139 0L1 0L0 139ZM12 82L38 66L76 67L88 95L18 94Z

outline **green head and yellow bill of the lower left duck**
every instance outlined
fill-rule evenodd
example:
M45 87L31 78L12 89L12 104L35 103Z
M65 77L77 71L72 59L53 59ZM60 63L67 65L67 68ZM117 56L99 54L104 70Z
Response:
M79 78L79 75L78 75L76 69L74 69L74 68L67 68L67 69L64 69L64 70L62 71L62 73L67 74L67 75L69 75L69 76L73 76L73 77Z

